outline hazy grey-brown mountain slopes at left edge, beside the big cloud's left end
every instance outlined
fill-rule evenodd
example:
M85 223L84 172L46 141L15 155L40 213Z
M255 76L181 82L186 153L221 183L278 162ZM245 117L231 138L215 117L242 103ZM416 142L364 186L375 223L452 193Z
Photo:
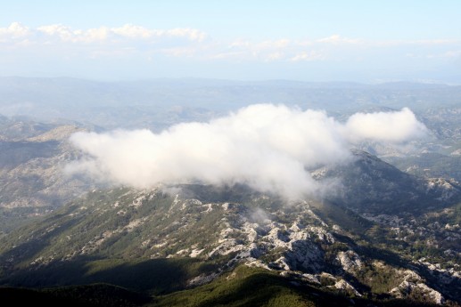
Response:
M76 125L0 118L0 231L45 214L90 188L63 173L79 153L68 141Z

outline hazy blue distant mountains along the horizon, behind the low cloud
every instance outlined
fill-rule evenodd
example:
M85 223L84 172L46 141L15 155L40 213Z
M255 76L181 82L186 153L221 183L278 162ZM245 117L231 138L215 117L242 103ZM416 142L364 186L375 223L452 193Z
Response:
M283 103L347 115L365 109L416 113L458 106L461 86L391 83L309 83L200 78L98 82L69 77L0 77L0 114L37 120L68 118L105 129L161 130L255 103ZM437 106L437 108L433 108ZM180 119L180 120L179 120Z

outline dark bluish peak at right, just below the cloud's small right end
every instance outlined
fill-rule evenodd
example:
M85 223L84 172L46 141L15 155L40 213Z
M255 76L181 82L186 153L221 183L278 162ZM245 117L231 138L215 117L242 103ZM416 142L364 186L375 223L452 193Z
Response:
M340 179L333 196L326 196L330 201L360 213L415 214L461 200L461 186L454 180L416 177L362 150L353 150L353 156L349 164L312 172L320 181Z

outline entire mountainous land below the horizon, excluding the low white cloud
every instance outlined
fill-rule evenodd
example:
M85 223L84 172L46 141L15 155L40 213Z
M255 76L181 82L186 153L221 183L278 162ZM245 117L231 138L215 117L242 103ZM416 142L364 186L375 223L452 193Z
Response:
M0 78L0 296L49 306L459 306L458 86ZM219 102L217 102L219 101ZM161 131L248 102L409 106L430 131L364 141L302 198L243 183L136 190L67 174L70 135ZM440 101L439 104L436 104ZM347 103L346 103L347 102Z

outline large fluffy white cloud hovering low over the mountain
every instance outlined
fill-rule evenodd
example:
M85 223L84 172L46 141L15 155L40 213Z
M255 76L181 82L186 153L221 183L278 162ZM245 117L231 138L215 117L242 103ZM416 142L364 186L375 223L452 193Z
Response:
M67 171L138 189L159 183L239 182L300 198L323 188L306 169L348 161L353 143L404 142L425 133L409 109L357 113L340 123L323 111L259 104L161 133L75 133L70 141L86 158Z

